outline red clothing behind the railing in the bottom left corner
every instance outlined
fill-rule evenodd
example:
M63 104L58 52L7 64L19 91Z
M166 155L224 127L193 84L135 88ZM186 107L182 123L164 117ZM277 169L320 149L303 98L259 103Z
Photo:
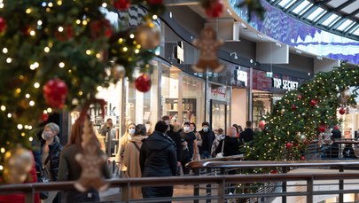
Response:
M31 180L24 183L37 183L37 176L36 176L36 168L35 168L35 160L33 158L33 168L30 171ZM25 202L25 194L8 194L8 195L0 195L0 202L1 203L24 203ZM40 195L38 192L35 193L34 197L35 203L40 203Z

